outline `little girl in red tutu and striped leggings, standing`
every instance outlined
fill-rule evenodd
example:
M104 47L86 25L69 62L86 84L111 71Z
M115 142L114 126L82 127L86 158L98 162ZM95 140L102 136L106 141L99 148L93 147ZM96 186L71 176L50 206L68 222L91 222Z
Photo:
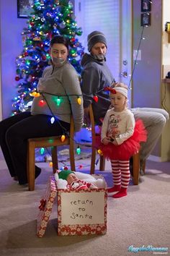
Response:
M127 108L128 87L118 83L110 91L112 108L107 111L102 123L99 149L112 166L114 187L108 192L117 192L114 198L127 195L130 182L130 156L138 153L140 142L146 142L146 130L143 122L135 122L133 113Z

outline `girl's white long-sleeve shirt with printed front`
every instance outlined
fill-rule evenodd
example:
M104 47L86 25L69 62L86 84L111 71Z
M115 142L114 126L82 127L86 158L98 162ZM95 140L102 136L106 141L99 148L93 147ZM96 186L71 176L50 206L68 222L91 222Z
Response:
M114 108L107 111L104 116L101 131L101 141L104 137L111 137L120 145L133 135L135 128L135 118L129 109L116 112Z

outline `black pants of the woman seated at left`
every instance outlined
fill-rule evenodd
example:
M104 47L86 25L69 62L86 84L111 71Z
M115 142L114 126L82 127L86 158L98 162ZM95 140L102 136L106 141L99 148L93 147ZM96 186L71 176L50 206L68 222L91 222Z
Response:
M11 176L17 176L19 184L27 183L27 139L63 135L70 124L64 121L50 123L51 116L22 112L0 122L0 145ZM35 172L37 166L35 166Z

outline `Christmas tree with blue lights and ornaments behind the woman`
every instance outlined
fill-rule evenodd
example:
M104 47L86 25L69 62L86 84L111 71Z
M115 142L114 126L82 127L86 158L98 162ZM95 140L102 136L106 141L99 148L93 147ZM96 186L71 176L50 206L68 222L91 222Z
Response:
M76 36L81 35L73 14L73 4L68 0L35 0L33 12L23 29L23 51L17 57L18 96L14 98L13 114L27 111L36 96L37 82L50 59L49 45L53 35L64 35L69 39L68 61L81 73L81 55L84 48Z

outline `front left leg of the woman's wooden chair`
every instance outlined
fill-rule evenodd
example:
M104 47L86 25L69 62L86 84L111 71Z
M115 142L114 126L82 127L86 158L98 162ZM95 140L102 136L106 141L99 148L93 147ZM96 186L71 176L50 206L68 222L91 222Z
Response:
M27 180L28 189L35 190L35 143L28 142L27 149Z

